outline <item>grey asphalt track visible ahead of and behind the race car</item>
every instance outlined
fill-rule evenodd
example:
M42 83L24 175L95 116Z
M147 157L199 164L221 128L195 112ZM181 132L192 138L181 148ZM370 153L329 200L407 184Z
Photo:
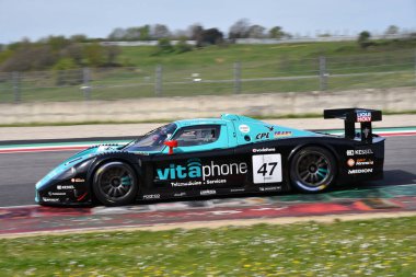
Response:
M0 207L33 205L35 183L77 151L1 153ZM416 136L385 141L384 180L366 187L416 184Z

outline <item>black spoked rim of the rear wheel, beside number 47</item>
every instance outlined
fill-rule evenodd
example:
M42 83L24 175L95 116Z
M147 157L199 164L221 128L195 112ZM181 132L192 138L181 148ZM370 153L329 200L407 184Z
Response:
M332 176L330 160L323 153L307 152L297 162L297 174L307 187L326 186Z

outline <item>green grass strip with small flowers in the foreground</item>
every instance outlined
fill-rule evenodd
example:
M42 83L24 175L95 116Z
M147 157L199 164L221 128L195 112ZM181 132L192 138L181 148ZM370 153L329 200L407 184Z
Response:
M1 276L413 276L416 217L0 240Z

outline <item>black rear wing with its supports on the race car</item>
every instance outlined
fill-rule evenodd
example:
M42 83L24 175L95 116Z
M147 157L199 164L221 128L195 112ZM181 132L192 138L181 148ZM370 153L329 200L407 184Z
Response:
M324 109L324 118L344 119L345 138L354 139L356 137L356 123L361 125L361 141L372 142L372 122L381 122L382 113L369 108L334 108Z

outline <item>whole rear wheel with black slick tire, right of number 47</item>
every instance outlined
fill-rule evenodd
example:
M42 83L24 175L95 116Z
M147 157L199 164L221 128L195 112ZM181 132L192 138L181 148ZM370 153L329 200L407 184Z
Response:
M292 186L302 193L320 193L335 182L334 155L321 147L305 147L294 153L290 162Z

